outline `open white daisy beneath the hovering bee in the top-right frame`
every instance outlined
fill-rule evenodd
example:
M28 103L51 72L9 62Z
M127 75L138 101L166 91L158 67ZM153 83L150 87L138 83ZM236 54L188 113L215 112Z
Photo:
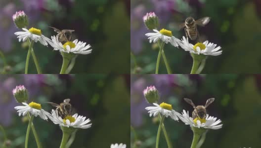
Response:
M191 44L188 42L188 38L183 36L183 40L179 42L179 46L183 48L185 51L189 51L190 53L194 54L204 54L204 55L212 55L212 56L217 56L222 54L222 50L218 51L221 49L220 46L217 46L217 44L211 43L208 40L205 42L198 42L195 45Z

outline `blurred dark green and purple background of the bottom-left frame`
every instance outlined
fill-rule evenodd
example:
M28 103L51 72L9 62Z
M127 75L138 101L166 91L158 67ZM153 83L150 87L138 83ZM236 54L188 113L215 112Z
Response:
M113 143L124 143L130 148L130 75L1 75L0 125L10 140L8 148L24 148L28 125L14 110L21 104L15 102L11 91L19 84L28 89L30 102L41 103L45 111L53 107L44 102L61 103L70 98L73 112L91 119L91 128L79 129L70 148L110 148ZM58 125L39 117L34 124L43 148L59 148L62 131ZM0 131L0 147L2 142ZM28 147L37 147L32 132Z

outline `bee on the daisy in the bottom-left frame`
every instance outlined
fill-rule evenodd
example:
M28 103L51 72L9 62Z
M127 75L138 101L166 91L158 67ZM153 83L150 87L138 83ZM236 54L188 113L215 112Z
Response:
M55 111L58 112L58 115L62 118L65 118L67 115L72 114L72 105L69 102L70 102L70 99L65 99L60 104L56 104L56 103L53 103L53 102L46 102L46 103L49 103L53 107L56 107Z

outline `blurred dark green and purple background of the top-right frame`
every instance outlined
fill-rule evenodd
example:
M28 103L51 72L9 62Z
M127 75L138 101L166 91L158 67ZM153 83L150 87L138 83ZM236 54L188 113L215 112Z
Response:
M219 56L209 56L202 74L259 74L261 73L261 1L260 0L131 0L131 72L154 74L159 47L145 37L142 16L154 11L160 28L169 29L173 36L185 36L178 25L192 16L211 17L205 27L198 27L204 40L221 46ZM188 74L192 58L188 52L170 44L165 53L174 74ZM163 59L160 74L167 74Z

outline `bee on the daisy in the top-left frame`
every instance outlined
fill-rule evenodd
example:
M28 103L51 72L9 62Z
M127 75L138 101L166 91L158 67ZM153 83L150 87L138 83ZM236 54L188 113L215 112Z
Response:
M62 44L66 43L67 41L72 41L72 32L74 32L74 30L64 29L60 31L59 29L54 27L50 28L52 28L54 32L57 33L56 37Z

